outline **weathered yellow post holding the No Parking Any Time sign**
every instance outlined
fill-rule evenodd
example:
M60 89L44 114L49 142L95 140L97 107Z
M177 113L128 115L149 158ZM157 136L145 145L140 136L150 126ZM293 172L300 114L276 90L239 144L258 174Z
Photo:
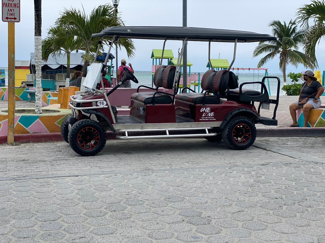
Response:
M8 23L8 137L14 142L15 129L15 23Z

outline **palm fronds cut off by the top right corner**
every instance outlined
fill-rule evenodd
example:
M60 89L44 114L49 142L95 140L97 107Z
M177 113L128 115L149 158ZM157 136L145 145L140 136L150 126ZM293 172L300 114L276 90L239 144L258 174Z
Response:
M320 38L325 35L325 2L311 1L311 4L306 4L297 11L297 23L301 24L306 29L306 40L304 43L304 51L307 60L315 62L318 66L315 49L316 44L319 44ZM308 21L312 19L314 25L309 26Z

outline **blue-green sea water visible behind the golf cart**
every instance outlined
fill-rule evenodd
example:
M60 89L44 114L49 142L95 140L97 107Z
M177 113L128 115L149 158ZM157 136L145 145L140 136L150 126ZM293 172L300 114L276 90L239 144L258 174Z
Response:
M201 75L204 72L200 72ZM235 72L237 75L237 73ZM115 75L115 72L114 72ZM152 75L150 71L134 71L134 75L139 81L139 84L136 84L132 82L132 87L138 87L139 85L145 85L151 87L152 85ZM269 74L268 76L276 76L279 77L280 79L280 95L283 95L283 90L281 88L283 87L283 75L282 74ZM239 73L238 74L238 79L239 79L239 84L244 83L244 82L256 82L256 81L262 81L262 78L264 77L263 74L253 74L253 73ZM266 79L266 88L268 90L268 85L267 85L267 79ZM300 82L299 82L300 83ZM302 81L301 81L302 83ZM269 84L270 84L270 90L271 90L271 95L276 95L277 94L277 80L276 79L269 79ZM291 80L289 77L287 78L287 84L291 84ZM191 87L194 89L194 86ZM261 89L260 84L248 84L244 85L243 88L250 88L250 89L256 89L259 90ZM196 91L198 90L198 87L196 87ZM201 91L201 88L200 88Z

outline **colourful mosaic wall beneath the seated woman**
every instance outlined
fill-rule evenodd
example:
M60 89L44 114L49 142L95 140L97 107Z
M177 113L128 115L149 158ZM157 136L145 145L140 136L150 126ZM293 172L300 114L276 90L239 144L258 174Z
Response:
M318 109L311 109L310 116L307 123L308 127L325 127L325 109L318 108ZM297 121L299 127L304 126L304 114L302 113L301 109L297 110Z

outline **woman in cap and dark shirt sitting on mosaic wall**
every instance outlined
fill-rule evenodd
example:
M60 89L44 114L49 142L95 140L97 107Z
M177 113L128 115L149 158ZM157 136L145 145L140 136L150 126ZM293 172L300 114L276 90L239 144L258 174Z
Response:
M293 121L292 125L289 127L298 127L296 110L300 108L302 108L304 114L304 127L307 127L310 110L318 108L322 104L319 97L324 93L324 87L317 81L312 71L303 71L302 74L304 76L301 79L305 82L300 91L299 99L289 106L290 115Z

